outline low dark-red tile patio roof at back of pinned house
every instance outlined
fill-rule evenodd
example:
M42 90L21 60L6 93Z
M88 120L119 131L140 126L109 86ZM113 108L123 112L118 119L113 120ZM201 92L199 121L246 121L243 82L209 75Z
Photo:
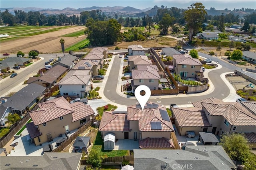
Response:
M145 138L139 140L140 148L170 148L174 149L174 144L172 139L167 138Z

